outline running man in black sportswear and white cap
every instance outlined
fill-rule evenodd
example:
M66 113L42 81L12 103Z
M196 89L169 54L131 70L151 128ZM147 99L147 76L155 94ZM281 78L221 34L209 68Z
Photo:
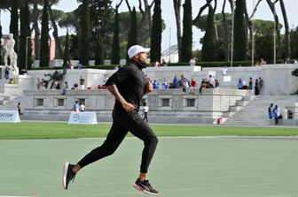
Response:
M76 164L65 163L63 170L63 186L67 189L68 184L75 178L76 173L83 167L94 163L107 155L113 155L128 132L144 141L142 161L139 177L133 186L147 194L159 192L151 186L147 172L153 158L158 139L145 120L138 115L142 97L153 91L153 85L145 80L142 71L146 67L148 50L139 45L129 48L128 55L130 64L122 67L106 81L106 87L115 97L113 110L113 125L106 136L105 142L98 148L93 149Z

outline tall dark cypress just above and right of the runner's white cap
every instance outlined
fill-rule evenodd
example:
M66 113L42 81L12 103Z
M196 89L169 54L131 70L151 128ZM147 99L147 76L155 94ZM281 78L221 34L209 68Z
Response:
M161 0L154 1L150 61L161 60Z

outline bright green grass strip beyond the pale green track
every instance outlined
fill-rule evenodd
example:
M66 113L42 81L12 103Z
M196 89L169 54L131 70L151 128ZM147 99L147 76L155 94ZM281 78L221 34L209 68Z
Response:
M158 136L297 136L294 127L231 127L217 125L151 125ZM75 139L106 137L110 124L1 123L0 139Z

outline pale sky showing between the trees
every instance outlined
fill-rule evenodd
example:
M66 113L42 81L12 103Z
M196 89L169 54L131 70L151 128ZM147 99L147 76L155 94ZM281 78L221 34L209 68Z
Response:
M119 3L120 0L114 0L113 6ZM149 3L152 0L148 1ZM192 0L192 19L196 17L198 14L200 7L205 4L206 1L203 0ZM217 10L216 12L221 12L223 0L217 0ZM247 11L248 14L251 15L253 11L254 4L256 4L257 0L247 0ZM184 0L182 0L184 3ZM298 17L297 17L297 8L298 1L297 0L284 0L286 5L286 14L290 27L298 26ZM129 0L130 6L136 6L138 8L138 0ZM59 4L54 7L54 9L59 9L62 11L74 11L78 7L78 3L76 0L60 0ZM230 4L226 4L226 12L231 13ZM137 9L138 10L138 9ZM276 4L276 10L279 17L279 22L283 24L283 18L280 11L279 3ZM120 11L128 11L127 5L123 0L122 5L120 6ZM152 11L153 13L153 11ZM203 14L208 14L208 9L203 12ZM162 0L161 1L161 17L164 19L166 23L166 29L162 32L161 38L161 50L168 49L170 45L176 44L176 18L174 14L174 6L172 0ZM181 19L183 19L183 9L181 11ZM265 19L265 20L273 20L273 14L266 3L265 0L261 2L258 6L258 10L255 12L255 19ZM3 34L8 34L9 32L9 20L10 13L9 11L2 11L1 14L1 24L3 27ZM66 34L66 29L59 29L59 35ZM193 46L192 49L201 49L200 38L204 36L204 32L200 32L196 27L192 27L192 41Z

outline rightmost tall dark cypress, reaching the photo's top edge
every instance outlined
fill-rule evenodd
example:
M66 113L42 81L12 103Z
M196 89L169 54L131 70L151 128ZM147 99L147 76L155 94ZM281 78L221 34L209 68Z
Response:
M247 27L245 23L245 0L236 1L234 15L234 60L244 61L247 59Z

